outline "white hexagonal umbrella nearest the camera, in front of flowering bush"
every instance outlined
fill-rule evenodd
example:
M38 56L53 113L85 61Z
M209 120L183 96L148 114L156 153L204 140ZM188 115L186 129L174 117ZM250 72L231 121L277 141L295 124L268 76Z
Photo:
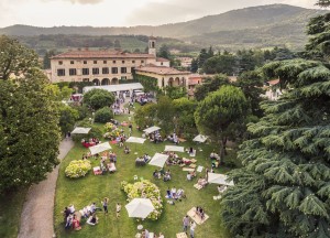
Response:
M128 205L125 205L125 208L129 213L129 217L138 217L143 219L155 209L154 205L148 198L134 198Z

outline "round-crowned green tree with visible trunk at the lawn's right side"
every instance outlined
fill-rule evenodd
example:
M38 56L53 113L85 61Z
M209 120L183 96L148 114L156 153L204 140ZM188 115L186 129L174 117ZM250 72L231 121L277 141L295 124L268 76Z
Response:
M210 93L198 104L195 111L197 128L219 142L220 163L223 162L228 139L235 138L238 128L248 113L249 107L243 91L231 85Z

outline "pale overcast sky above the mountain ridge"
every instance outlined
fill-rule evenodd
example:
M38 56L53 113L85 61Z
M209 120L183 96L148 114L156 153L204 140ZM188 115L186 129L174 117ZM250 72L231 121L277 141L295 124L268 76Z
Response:
M286 3L316 8L317 0L0 0L0 28L157 25L233 9Z

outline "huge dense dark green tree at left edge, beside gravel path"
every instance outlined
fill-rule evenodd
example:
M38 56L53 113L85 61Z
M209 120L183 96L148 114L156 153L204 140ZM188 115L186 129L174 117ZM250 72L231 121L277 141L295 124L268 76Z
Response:
M0 47L10 51L3 54L11 55L11 68L36 61L30 55L24 60L23 46L13 51L11 41L3 43L9 44ZM24 68L25 77L0 80L0 193L37 183L58 164L58 111L46 90L47 78L28 64Z

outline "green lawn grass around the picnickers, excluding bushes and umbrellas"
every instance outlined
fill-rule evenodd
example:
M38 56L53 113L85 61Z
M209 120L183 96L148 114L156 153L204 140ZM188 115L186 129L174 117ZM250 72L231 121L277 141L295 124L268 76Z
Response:
M128 120L127 116L120 116L116 119L122 121ZM128 131L128 128L124 128ZM141 137L141 132L133 130L133 136ZM193 185L197 182L186 180L186 172L182 171L178 165L166 166L166 170L172 172L172 181L163 182L162 180L155 180L152 173L155 166L135 166L135 159L138 155L143 155L147 153L153 155L155 152L162 152L165 144L170 144L170 142L163 143L152 143L145 141L144 144L132 144L127 143L132 152L130 154L123 153L123 148L119 148L117 144L111 144L112 151L117 153L117 172L114 174L106 175L94 175L89 172L85 177L81 178L67 178L65 176L65 167L69 164L72 160L81 159L81 154L86 153L88 150L82 148L79 143L67 154L63 160L59 169L59 175L57 180L56 190L56 202L55 202L55 230L57 237L135 237L138 232L136 226L140 224L134 218L128 217L128 213L124 208L127 204L127 197L124 192L120 190L120 183L122 181L133 182L134 175L140 178L150 180L155 183L162 192L162 198L164 202L164 210L161 218L156 221L144 220L142 225L150 231L158 234L162 231L165 237L173 238L175 235L182 231L182 219L186 213L194 206L202 206L206 214L209 215L209 219L202 225L198 225L196 228L196 237L209 237L209 238L227 238L230 237L229 234L221 226L221 218L219 216L219 201L213 201L212 196L217 195L217 185L209 184L206 188L197 191ZM190 147L198 149L196 158L198 165L204 165L210 167L211 163L209 158L210 152L215 147L210 144L196 144L195 142L185 142L179 145ZM202 151L199 151L201 149ZM138 155L134 154L138 152ZM182 156L187 156L187 153L178 153ZM229 153L229 156L234 158L234 152ZM92 166L99 165L99 160L91 159ZM216 172L226 173L229 170L226 167L217 169ZM205 175L205 170L201 175ZM187 195L187 199L182 202L176 202L175 205L166 203L165 194L167 187L184 188ZM74 204L76 209L81 209L86 205L96 202L98 206L101 207L101 201L103 197L109 197L109 215L106 216L102 212L98 212L99 224L97 226L89 226L81 220L82 229L79 231L65 230L62 210L65 206ZM116 218L116 204L122 204L121 217Z

